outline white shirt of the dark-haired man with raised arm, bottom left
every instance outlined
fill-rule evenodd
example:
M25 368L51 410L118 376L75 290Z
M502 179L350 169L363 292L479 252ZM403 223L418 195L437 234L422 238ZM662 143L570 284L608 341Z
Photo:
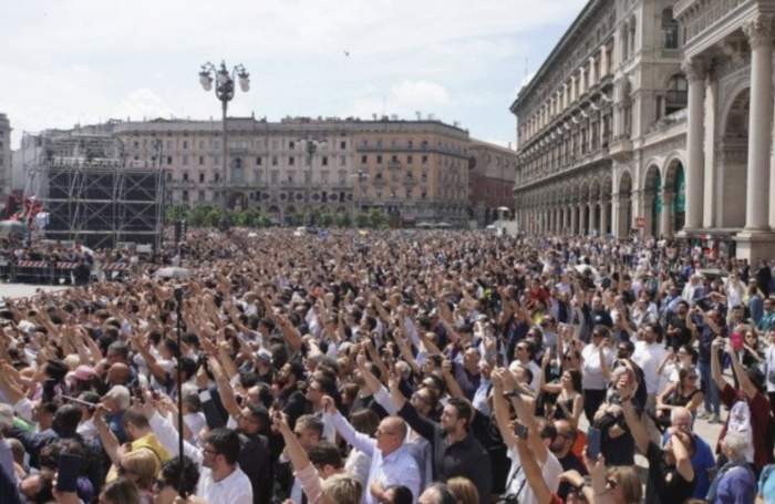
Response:
M158 413L148 420L156 439L172 456L178 455L177 431ZM235 470L220 481L213 479L213 471L202 465L202 450L187 441L183 443L183 452L199 466L199 485L196 495L209 504L252 504L252 485L248 476L235 465Z

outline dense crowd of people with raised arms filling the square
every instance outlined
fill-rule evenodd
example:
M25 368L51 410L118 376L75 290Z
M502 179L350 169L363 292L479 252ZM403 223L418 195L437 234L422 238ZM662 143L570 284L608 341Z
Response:
M775 502L773 263L459 232L179 251L185 280L4 299L0 502Z

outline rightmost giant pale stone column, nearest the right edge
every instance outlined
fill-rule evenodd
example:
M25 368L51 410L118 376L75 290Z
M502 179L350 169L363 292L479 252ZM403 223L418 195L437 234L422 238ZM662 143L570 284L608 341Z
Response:
M743 27L751 45L751 109L748 112L748 176L745 229L768 227L769 146L773 120L772 18L760 16Z

